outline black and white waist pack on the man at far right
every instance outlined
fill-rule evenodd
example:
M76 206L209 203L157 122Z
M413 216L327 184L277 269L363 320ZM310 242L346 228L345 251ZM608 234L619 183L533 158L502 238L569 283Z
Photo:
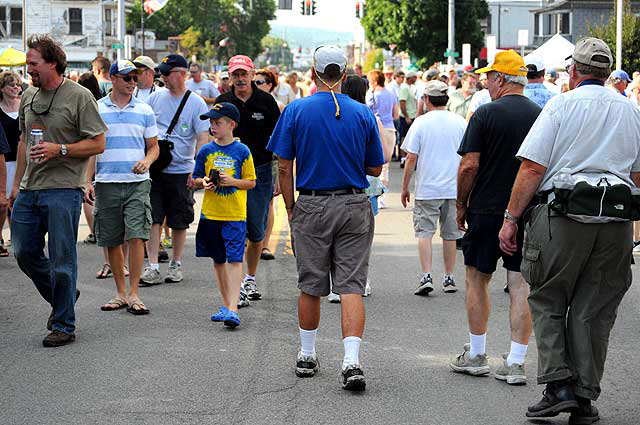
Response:
M611 185L606 177L595 186L584 181L563 186L562 183L554 186L554 199L549 202L549 208L559 215L581 223L640 219L640 189Z

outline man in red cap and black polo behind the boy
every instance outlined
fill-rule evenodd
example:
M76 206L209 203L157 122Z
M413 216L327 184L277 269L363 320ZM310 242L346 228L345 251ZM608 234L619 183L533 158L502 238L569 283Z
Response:
M233 103L240 111L240 124L233 130L233 135L251 150L257 176L256 187L247 191L247 274L242 282L238 307L248 306L249 300L262 298L256 286L256 271L273 196L273 154L267 150L267 143L280 118L276 100L258 89L253 82L254 73L253 61L247 56L229 59L231 90L216 100Z

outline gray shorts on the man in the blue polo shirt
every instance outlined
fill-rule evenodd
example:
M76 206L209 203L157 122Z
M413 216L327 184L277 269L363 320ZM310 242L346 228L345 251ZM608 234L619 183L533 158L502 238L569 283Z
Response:
M309 295L364 294L374 220L366 194L300 195L291 220L298 288Z

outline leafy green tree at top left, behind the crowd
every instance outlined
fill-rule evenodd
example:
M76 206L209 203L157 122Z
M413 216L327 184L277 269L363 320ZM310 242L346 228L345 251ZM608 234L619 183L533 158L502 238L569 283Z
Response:
M245 7L234 0L171 0L165 7L145 19L145 28L166 39L185 33L188 49L200 59L216 56L218 61L235 54L255 57L260 41L269 33L269 20L275 17L273 0L246 0ZM129 31L140 28L141 5L135 0L127 16ZM193 35L198 34L197 41ZM220 46L220 41L228 43Z

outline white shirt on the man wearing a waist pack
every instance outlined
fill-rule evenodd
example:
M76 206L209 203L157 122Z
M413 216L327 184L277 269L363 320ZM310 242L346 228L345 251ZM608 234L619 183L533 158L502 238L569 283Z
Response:
M640 110L619 93L586 85L552 97L516 154L547 168L540 191L569 168L576 181L635 186L640 171Z

